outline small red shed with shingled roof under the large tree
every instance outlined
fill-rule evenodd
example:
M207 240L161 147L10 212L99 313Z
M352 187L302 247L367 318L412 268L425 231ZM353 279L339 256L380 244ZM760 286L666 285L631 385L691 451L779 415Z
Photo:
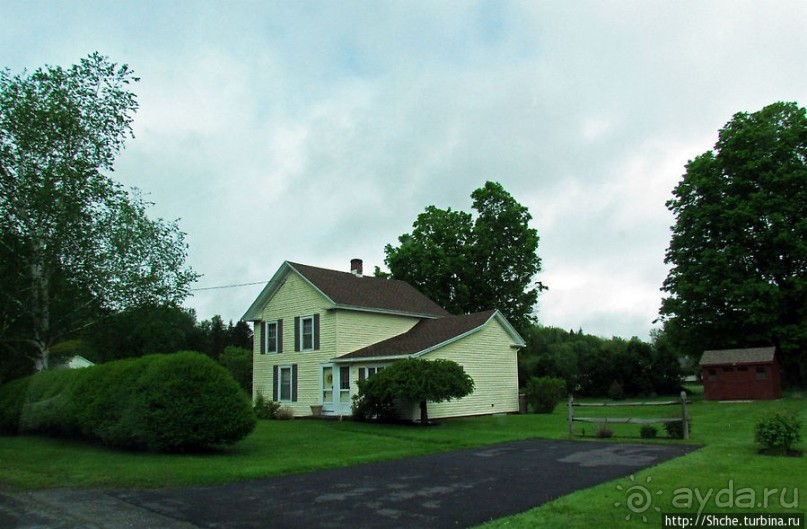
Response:
M778 399L782 395L775 347L704 351L700 366L707 400Z

